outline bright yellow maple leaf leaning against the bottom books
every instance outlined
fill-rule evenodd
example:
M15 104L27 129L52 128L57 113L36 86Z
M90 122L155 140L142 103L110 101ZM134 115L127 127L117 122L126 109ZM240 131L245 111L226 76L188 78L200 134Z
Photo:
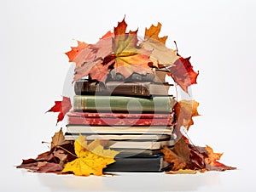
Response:
M62 172L73 172L80 176L102 175L102 169L113 163L113 157L119 152L104 150L98 142L96 140L87 144L85 137L79 135L74 142L74 150L78 158L68 162Z

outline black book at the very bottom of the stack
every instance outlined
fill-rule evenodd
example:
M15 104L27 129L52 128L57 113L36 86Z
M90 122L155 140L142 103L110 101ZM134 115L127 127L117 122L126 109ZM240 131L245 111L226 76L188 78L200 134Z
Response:
M115 162L108 165L104 172L163 172L170 168L164 155L116 155Z

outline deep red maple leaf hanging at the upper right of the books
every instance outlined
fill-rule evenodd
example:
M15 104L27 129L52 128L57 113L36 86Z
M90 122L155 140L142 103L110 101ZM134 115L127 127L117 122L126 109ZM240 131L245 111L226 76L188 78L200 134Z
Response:
M196 78L199 75L199 71L196 73L193 70L189 59L190 57L185 59L181 57L175 61L172 67L168 68L174 82L186 93L188 93L188 87L190 85L196 84Z

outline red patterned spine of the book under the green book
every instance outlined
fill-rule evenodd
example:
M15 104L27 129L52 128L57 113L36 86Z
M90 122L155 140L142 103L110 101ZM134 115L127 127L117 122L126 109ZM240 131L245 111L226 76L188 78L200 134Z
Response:
M168 118L151 118L151 119L141 119L141 118L86 118L79 116L69 116L69 124L82 124L82 125L103 125L103 126L171 126L173 118L169 116Z

